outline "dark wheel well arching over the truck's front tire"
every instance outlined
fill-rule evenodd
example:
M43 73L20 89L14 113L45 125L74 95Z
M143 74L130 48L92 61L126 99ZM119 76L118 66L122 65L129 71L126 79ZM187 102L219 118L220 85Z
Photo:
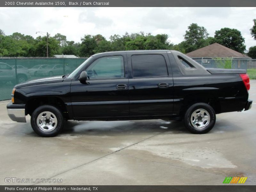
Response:
M26 115L32 115L33 111L41 105L52 105L60 109L65 119L69 119L65 103L58 97L37 97L31 99L26 104Z

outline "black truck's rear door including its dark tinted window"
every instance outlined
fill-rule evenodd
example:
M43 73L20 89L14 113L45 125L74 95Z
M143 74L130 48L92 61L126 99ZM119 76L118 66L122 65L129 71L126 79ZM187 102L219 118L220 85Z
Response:
M130 116L172 115L173 80L166 52L127 52Z

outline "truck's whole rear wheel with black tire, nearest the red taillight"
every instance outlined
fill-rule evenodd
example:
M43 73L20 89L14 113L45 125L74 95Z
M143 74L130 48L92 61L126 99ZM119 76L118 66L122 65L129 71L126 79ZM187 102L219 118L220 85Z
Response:
M191 105L184 116L186 128L194 134L204 134L211 131L215 121L215 111L206 103Z

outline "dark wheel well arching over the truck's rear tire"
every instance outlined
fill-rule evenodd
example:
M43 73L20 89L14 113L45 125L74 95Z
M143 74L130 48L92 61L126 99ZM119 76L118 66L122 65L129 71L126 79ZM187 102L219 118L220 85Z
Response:
M189 99L184 99L183 107L180 109L180 116L183 116L187 109L195 103L207 103L214 109L216 114L220 113L220 101L218 99L209 97L190 97Z

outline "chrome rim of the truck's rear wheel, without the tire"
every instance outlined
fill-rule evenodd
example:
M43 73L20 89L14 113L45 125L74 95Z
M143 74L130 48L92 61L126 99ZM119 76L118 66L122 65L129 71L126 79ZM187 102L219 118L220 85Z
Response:
M190 117L191 124L196 129L205 128L210 123L210 120L210 114L205 109L196 109Z

